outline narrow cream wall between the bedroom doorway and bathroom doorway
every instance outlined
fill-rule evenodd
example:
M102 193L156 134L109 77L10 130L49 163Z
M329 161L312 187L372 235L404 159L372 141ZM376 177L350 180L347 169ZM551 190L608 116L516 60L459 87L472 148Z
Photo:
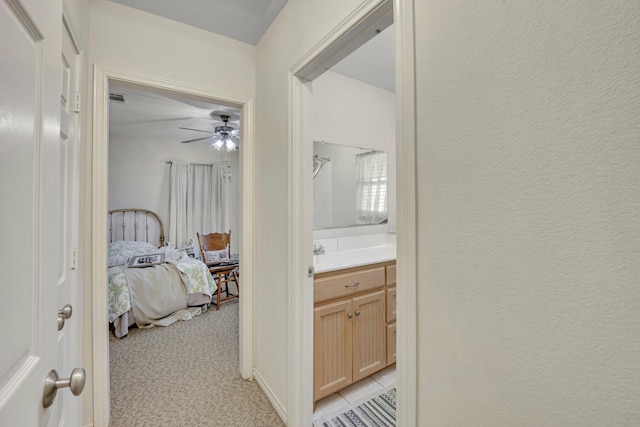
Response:
M289 68L344 20L358 0L289 0L256 47L255 370L288 409L287 253ZM312 378L309 378L312 381Z

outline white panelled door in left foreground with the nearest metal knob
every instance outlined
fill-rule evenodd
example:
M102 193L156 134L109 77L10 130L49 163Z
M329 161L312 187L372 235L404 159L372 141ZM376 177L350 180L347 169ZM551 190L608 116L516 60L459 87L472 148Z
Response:
M68 138L61 137L62 7L0 2L0 425L58 426L61 388L43 405L47 373L63 364L60 294L67 292ZM73 316L67 322L78 320ZM68 325L67 325L68 326ZM65 326L65 328L67 327ZM64 330L64 329L63 329ZM69 331L69 329L67 329ZM62 385L62 384L61 384ZM62 399L60 399L62 397ZM70 424L73 425L70 418Z

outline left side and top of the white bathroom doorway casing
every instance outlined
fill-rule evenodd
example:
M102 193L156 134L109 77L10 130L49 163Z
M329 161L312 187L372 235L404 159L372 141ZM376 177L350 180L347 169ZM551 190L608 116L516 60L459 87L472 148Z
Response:
M290 68L289 106L289 413L288 426L310 425L313 417L313 80L393 22L389 0L363 2ZM309 381L311 379L311 381Z

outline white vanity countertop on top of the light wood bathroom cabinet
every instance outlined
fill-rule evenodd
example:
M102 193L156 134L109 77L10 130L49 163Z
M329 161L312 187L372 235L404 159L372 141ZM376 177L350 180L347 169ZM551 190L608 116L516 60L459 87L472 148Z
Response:
M351 251L330 252L313 256L313 268L316 273L358 267L378 262L394 261L396 245L380 245Z

